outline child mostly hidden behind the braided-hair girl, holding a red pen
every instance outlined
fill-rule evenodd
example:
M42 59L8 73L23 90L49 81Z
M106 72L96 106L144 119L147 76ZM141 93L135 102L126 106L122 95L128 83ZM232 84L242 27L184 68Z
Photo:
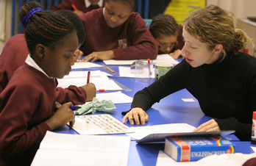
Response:
M85 41L85 29L82 25L80 18L68 10L58 10L57 13L65 16L71 21L77 29L77 36L79 40L79 46ZM80 52L79 49L76 52ZM13 73L22 65L28 57L29 50L26 46L26 39L24 34L18 34L10 39L5 44L0 56L0 93L7 86ZM78 53L79 54L79 53ZM78 57L76 57L78 56ZM74 60L79 58L80 54L74 54ZM56 98L61 104L72 101L74 104L85 104L85 101L91 101L96 96L96 87L94 84L89 83L82 87L76 87L74 85L68 88L57 87Z

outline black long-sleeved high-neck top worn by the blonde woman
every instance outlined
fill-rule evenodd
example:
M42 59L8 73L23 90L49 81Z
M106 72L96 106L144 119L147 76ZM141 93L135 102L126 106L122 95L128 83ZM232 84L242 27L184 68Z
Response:
M240 140L251 139L252 112L256 111L255 57L228 54L222 62L197 68L184 59L157 82L138 91L132 108L147 110L184 88L198 99L205 115L216 118L221 130L235 130Z

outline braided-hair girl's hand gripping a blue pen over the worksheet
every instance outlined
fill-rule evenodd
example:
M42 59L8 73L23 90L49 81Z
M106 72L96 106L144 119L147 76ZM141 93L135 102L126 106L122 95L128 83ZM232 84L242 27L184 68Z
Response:
M51 128L51 130L56 129L57 127L64 126L69 122L70 126L74 125L74 112L70 109L73 106L71 102L63 104L54 115L46 120L46 124Z

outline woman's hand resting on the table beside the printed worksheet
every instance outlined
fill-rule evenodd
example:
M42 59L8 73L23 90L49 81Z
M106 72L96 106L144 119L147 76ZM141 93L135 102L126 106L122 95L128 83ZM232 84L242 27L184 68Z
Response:
M136 125L145 125L145 123L149 120L149 115L147 115L143 109L136 107L127 112L123 118L123 123L125 123L127 118L131 125L134 125L135 123Z

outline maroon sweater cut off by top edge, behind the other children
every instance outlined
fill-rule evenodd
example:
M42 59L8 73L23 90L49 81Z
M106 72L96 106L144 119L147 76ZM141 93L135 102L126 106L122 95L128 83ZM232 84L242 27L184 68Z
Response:
M77 10L81 10L82 12L89 12L90 10L95 10L99 8L99 5L90 5L86 7L85 0L65 0L62 3L58 4L57 6L51 7L51 10L71 10L74 11L72 4L77 7ZM104 1L103 5L104 7Z

